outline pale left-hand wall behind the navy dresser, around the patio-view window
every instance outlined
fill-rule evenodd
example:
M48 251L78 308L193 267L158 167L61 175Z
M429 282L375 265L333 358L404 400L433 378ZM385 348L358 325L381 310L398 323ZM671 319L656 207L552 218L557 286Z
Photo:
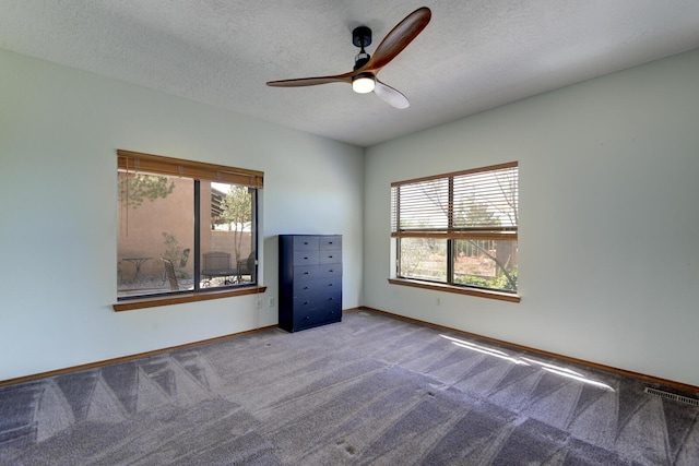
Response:
M246 296L114 312L117 148L265 172L261 310ZM0 380L276 324L283 232L343 235L343 307L359 306L363 164L357 147L0 50Z

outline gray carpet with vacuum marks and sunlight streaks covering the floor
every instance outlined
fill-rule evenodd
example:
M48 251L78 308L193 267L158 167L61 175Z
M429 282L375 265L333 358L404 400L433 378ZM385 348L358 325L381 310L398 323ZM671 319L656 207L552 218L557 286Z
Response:
M359 311L0 387L0 463L699 465L645 386Z

